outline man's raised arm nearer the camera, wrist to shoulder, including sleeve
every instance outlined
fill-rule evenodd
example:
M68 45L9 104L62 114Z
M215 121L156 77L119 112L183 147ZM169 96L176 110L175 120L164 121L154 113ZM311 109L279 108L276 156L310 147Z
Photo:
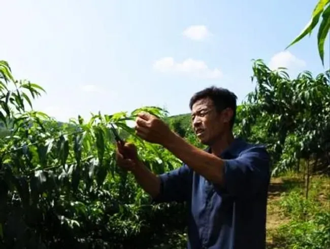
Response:
M261 146L252 147L230 160L196 148L178 135L164 147L196 173L214 185L224 187L233 196L251 195L269 180L270 157Z

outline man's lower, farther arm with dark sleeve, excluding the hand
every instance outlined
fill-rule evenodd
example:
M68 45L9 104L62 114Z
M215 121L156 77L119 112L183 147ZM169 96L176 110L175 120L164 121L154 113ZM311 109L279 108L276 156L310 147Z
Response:
M138 184L152 197L154 203L186 201L191 191L191 169L186 165L155 175L142 162L132 171Z

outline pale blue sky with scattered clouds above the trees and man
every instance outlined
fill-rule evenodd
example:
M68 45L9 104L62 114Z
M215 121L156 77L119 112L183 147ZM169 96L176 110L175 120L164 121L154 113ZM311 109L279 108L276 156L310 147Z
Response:
M189 112L191 95L216 85L241 102L253 90L251 59L324 71L316 33L284 48L315 1L4 1L0 59L17 79L43 86L34 108L67 121L143 105ZM329 67L329 45L325 68Z

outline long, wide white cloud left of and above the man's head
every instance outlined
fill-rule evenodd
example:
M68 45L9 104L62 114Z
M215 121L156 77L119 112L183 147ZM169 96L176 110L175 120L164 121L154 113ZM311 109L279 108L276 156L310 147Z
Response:
M180 63L173 57L164 57L155 61L153 68L162 73L181 73L203 79L219 79L222 76L220 69L210 69L205 61L191 58Z

